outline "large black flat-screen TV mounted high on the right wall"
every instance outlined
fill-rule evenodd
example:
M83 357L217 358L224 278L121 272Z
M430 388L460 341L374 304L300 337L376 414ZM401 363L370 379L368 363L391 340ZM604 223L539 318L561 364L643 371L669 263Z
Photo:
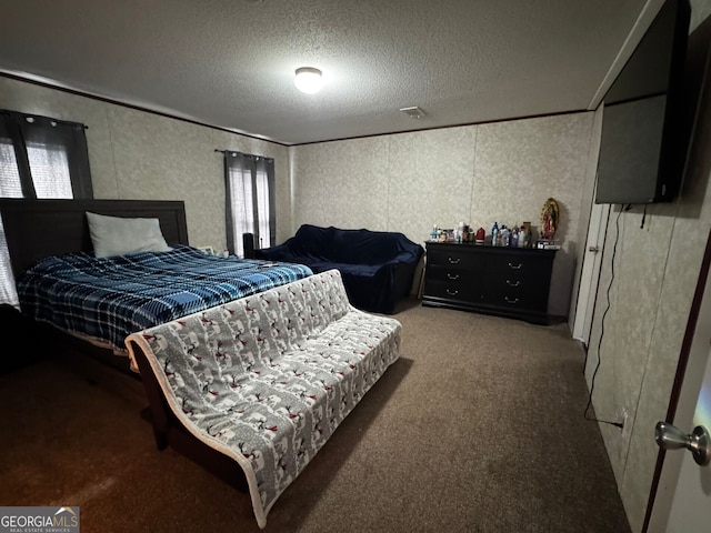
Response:
M679 190L690 13L688 0L664 2L604 95L595 203L667 202Z

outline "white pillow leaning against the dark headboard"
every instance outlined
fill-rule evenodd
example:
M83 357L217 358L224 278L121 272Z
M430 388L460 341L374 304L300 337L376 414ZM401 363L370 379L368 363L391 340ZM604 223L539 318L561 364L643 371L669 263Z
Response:
M87 221L97 258L172 250L166 243L158 219L124 219L87 211Z

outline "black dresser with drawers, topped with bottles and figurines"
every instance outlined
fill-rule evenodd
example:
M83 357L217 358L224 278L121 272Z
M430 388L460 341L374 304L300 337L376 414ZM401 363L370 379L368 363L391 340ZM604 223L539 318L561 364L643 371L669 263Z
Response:
M548 324L555 250L427 243L422 305Z

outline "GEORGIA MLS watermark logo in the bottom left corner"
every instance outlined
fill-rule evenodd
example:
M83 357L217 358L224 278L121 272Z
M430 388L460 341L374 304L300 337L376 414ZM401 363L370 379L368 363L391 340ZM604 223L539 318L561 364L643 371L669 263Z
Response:
M79 507L0 506L0 533L79 533Z

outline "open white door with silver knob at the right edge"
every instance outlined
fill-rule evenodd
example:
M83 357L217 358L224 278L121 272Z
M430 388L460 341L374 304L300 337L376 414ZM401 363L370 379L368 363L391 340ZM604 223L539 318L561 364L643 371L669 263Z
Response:
M711 242L711 240L710 240ZM689 359L679 390L675 412L668 420L684 433L697 426L711 431L711 278L708 274L711 247L702 266L698 294L698 319L693 328ZM701 293L700 289L705 283ZM693 309L692 309L693 315ZM689 335L691 330L689 329ZM674 393L672 392L672 401ZM673 408L672 408L673 409ZM670 409L670 411L672 411ZM650 429L650 439L653 431ZM691 452L668 450L658 461L659 485L650 494L649 532L682 533L711 531L711 464L698 465Z

